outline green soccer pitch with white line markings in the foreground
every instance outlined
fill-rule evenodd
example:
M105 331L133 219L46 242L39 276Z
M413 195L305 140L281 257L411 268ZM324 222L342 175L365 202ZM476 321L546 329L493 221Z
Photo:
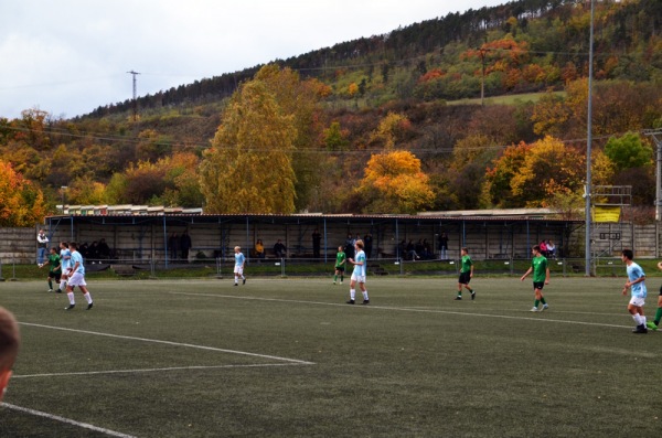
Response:
M0 437L628 437L662 427L662 333L632 334L621 278L0 284L23 344ZM659 279L648 280L647 314ZM359 298L360 296L357 296ZM359 298L360 299L360 298Z

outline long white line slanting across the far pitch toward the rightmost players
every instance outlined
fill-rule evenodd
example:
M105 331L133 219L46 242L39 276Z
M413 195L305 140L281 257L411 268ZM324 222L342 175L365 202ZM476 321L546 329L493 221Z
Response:
M338 306L338 307L356 308L356 309L380 309L380 310L397 310L397 311L404 311L404 312L461 314L461 316L467 316L467 317L515 319L515 320L521 320L521 321L545 321L545 322L558 322L558 323L564 323L564 324L612 327L612 328L618 328L618 329L629 329L629 328L631 328L631 325L606 324L606 323L602 323L602 322L567 321L567 320L559 320L559 319L532 318L532 317L515 317L515 316L508 316L508 314L470 313L470 312L458 312L458 311L453 311L453 310L420 309L420 308L413 308L413 307L386 307L386 306L373 306L373 305L370 305L370 306L348 306L348 305L338 303L338 302L286 300L286 299L282 299L282 298L259 298L259 297L245 297L245 296L233 296L233 295L214 295L214 293L191 293L191 292L167 292L167 293L186 295L186 296L194 296L194 297L234 298L234 299L257 300L257 301L296 302L296 303L302 303L302 305ZM522 312L524 310L522 310ZM538 312L538 313L544 313L544 312Z

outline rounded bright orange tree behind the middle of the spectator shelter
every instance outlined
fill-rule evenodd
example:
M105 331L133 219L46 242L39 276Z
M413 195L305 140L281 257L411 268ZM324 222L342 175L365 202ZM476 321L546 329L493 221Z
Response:
M366 213L416 213L435 197L420 160L404 150L373 154L359 193Z

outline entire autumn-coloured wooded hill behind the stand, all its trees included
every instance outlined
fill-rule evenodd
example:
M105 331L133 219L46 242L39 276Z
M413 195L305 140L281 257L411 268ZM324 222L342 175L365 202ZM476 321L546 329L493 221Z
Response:
M592 183L652 209L662 1L596 1L595 17ZM25 108L0 118L0 226L63 201L584 211L589 29L585 1L511 1L143 96L135 115Z

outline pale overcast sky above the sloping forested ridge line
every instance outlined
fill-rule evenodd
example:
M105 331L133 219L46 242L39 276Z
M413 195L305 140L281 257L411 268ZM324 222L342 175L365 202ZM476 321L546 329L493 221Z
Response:
M0 117L75 117L506 0L1 0Z

